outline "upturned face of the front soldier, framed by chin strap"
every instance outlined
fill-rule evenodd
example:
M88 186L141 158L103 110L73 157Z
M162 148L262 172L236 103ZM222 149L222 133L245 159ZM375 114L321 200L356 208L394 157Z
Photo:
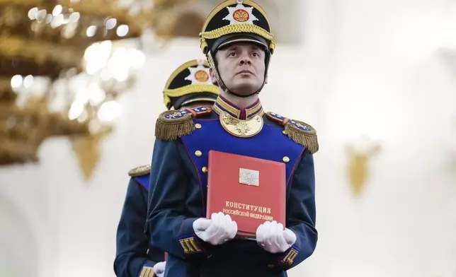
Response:
M215 59L220 78L233 93L249 95L263 85L265 52L255 43L233 43L220 49Z

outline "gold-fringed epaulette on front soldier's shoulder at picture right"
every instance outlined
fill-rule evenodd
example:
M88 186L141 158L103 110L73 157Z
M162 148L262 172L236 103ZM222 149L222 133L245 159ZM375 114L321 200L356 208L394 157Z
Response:
M274 112L266 112L266 117L284 126L284 134L296 143L305 146L310 153L317 153L319 150L317 131L315 131L314 127L305 122L289 119Z

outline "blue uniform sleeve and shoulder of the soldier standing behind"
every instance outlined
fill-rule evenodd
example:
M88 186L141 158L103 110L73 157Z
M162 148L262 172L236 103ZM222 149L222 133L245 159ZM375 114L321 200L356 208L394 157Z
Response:
M118 225L114 271L118 277L154 276L153 266L164 261L164 252L149 247L144 234L147 218L147 191L149 190L149 166L130 171L127 196ZM142 169L141 169L142 168Z

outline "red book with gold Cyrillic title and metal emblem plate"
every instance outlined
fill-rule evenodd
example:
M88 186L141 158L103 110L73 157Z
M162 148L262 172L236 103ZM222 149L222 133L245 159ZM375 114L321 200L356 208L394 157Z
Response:
M266 220L285 226L285 178L285 163L209 151L207 218L228 214L238 237L256 237Z

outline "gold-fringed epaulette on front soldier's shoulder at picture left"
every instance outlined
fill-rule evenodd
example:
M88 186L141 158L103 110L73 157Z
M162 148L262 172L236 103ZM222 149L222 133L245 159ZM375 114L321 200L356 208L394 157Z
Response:
M193 107L162 112L155 124L155 137L161 141L176 141L195 131L193 117L212 112L210 107Z

